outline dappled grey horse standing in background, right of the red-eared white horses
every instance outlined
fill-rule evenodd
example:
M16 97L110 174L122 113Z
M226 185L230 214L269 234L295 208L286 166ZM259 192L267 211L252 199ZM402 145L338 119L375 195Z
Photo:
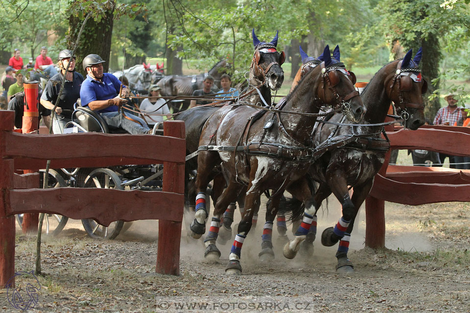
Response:
M162 88L162 96L190 96L197 89L204 88L204 79L211 75L214 78L214 85L220 88L220 77L229 67L225 60L217 62L207 73L197 75L165 75L157 85ZM188 109L189 100L184 101L181 111ZM174 108L177 109L177 108Z

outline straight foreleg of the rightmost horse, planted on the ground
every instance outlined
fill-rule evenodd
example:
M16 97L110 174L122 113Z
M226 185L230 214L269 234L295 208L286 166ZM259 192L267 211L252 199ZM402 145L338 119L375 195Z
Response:
M336 265L337 272L348 273L354 271L354 266L348 258L352 228L354 227L354 220L357 216L357 213L359 212L359 208L366 200L366 197L369 195L373 182L374 180L370 179L365 184L354 187L354 192L352 193L351 198L351 201L354 204L354 214L352 215L351 223L349 224L348 229L344 233L344 237L341 238L339 242L338 251L336 252L336 258L338 259L338 264Z

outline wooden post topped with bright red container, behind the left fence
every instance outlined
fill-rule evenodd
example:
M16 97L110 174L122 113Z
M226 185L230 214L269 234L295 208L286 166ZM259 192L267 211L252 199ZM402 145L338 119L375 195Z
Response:
M39 84L24 84L24 115L23 134L29 134L38 130L38 91ZM52 121L51 121L52 123ZM28 169L24 174L35 173L37 169ZM41 186L42 187L42 186ZM23 233L37 233L39 224L39 213L23 214Z

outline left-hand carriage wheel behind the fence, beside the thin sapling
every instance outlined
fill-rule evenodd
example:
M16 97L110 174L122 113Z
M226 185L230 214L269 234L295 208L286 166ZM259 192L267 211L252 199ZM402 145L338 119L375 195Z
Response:
M44 185L44 176L46 175L46 170L39 170L39 173L42 173L40 176L40 186L43 188ZM54 170L49 169L49 179L47 188L58 188L58 187L67 187L65 180ZM64 229L65 224L69 221L67 216L62 216L58 214L45 214L46 220L46 233L51 233L52 236L57 236L62 229ZM17 214L16 220L20 226L23 224L23 214Z

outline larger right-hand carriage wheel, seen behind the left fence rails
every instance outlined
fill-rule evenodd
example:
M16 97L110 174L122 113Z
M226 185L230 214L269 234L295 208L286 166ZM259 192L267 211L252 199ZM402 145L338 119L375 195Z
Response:
M88 175L85 188L107 188L124 190L118 175L108 168L98 168ZM111 223L108 227L96 223L93 219L83 219L83 228L87 234L96 239L115 239L124 225L123 221Z

